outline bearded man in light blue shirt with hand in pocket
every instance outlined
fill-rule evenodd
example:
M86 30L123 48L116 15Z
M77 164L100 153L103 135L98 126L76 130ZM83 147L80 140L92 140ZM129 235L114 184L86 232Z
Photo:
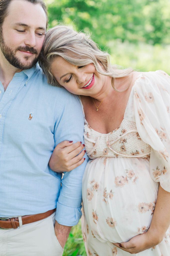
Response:
M0 256L62 255L81 217L86 160L62 180L48 165L61 141L83 149L84 120L36 64L47 20L42 0L0 0Z

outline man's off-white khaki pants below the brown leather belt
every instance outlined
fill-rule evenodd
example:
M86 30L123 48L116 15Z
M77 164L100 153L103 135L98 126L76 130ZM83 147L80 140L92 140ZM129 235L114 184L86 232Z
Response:
M17 229L0 229L0 256L61 256L54 232L55 212L44 220Z

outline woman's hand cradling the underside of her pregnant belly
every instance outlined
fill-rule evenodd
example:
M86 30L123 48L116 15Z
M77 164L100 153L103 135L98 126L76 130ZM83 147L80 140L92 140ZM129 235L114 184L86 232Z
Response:
M157 232L147 231L143 234L139 234L128 242L124 243L113 243L123 251L131 254L142 252L146 249L156 246L163 240L163 237L159 237Z

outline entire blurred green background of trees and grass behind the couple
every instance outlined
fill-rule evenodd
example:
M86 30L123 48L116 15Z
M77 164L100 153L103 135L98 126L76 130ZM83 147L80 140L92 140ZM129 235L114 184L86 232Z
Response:
M46 0L49 27L69 24L92 33L112 63L170 74L170 0ZM81 224L72 228L64 256L86 255Z

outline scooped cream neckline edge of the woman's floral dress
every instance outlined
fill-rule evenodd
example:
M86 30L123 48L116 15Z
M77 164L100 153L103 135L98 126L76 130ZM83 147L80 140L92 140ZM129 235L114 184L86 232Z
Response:
M151 71L151 72L152 72L152 71ZM123 120L121 121L121 123L119 124L119 126L118 126L116 129L112 130L112 131L109 132L109 133L101 133L101 132L98 132L98 131L94 130L94 129L89 125L89 123L87 122L86 117L85 117L84 106L83 106L83 103L82 103L82 100L81 100L81 95L79 95L80 103L81 103L82 110L83 110L83 114L84 114L84 120L85 120L86 124L89 125L90 130L94 131L95 133L97 133L97 134L99 134L99 135L108 136L110 133L116 132L116 131L118 131L118 130L120 129L122 123L123 123L124 120L126 119L126 112L127 112L127 109L128 109L128 105L129 105L129 102L130 102L130 99L131 99L132 95L134 94L134 93L133 93L133 89L134 89L135 83L136 83L136 81L137 81L138 79L140 79L140 77L143 76L144 73L145 73L145 72L142 72L141 74L139 74L139 76L137 76L137 78L135 79L135 81L134 81L134 83L133 83L133 86L132 86L131 91L130 91L130 94L129 94L128 102L127 102L127 105L126 105L126 109L125 109L125 111L124 111Z

